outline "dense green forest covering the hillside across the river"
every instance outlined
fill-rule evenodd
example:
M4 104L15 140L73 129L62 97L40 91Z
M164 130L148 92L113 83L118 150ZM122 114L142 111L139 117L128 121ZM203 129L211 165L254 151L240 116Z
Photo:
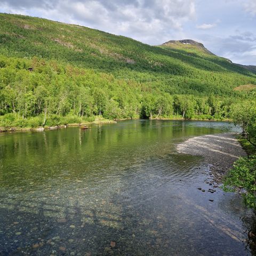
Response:
M0 127L229 119L233 103L255 98L256 74L197 47L22 15L0 24Z

